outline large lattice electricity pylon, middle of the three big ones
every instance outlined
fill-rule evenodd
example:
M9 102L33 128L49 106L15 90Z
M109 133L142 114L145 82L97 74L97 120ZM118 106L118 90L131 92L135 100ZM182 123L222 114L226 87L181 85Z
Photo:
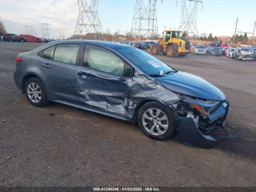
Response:
M131 40L155 40L157 35L156 0L136 0Z

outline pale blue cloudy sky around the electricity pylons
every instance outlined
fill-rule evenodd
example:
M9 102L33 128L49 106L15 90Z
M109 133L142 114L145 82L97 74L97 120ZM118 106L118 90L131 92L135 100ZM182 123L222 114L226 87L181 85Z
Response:
M90 1L90 0L88 0ZM147 0L144 0L147 1ZM198 34L232 36L237 28L252 32L256 22L256 0L202 0L197 13ZM132 26L136 0L99 0L98 14L103 32L107 29L120 34ZM157 0L158 33L166 28L177 29L180 24L182 0ZM64 37L74 34L78 18L77 0L0 0L0 21L7 32L24 34L23 26L33 26L42 36L40 23L50 24L50 38L58 38L57 28L66 28ZM248 36L251 36L248 34Z

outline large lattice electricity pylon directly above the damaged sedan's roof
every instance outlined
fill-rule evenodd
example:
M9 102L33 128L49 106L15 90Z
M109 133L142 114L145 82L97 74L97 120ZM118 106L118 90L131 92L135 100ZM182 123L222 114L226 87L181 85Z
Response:
M78 0L79 15L74 35L93 33L94 38L104 39L98 15L98 0Z

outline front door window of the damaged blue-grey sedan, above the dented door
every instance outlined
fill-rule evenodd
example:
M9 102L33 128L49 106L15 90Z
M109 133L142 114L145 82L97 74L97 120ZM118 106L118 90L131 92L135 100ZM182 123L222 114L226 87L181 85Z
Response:
M85 46L83 65L118 76L124 75L124 61L112 52L98 46Z

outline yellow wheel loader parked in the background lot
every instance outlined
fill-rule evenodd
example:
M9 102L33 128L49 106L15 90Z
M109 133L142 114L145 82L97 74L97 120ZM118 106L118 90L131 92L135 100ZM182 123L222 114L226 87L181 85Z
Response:
M168 57L185 57L190 52L190 42L180 31L165 30L163 37L158 38L158 42L151 46L151 53L158 55L162 52Z

